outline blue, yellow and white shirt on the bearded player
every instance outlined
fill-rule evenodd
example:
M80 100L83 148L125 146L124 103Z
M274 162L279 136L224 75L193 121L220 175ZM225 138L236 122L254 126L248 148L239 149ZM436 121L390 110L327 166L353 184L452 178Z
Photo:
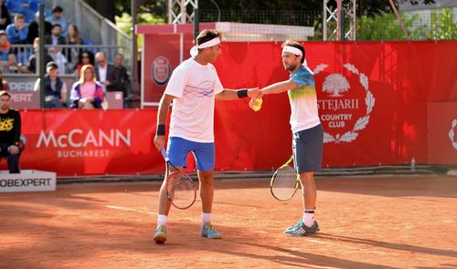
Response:
M300 67L291 75L297 88L289 89L291 103L292 132L311 129L321 123L317 110L317 95L314 87L314 74L308 67Z

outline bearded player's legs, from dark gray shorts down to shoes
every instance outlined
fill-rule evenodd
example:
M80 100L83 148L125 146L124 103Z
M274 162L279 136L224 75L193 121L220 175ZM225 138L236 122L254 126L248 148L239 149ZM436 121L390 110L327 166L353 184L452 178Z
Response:
M302 184L303 218L284 231L288 235L314 235L319 230L314 220L317 197L314 172L322 170L323 138L322 125L293 134L293 160Z

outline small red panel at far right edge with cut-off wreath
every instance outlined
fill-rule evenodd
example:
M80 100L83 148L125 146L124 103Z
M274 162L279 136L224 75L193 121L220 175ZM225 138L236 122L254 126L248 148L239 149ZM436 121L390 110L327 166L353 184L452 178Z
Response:
M457 102L427 103L427 149L430 164L457 163Z

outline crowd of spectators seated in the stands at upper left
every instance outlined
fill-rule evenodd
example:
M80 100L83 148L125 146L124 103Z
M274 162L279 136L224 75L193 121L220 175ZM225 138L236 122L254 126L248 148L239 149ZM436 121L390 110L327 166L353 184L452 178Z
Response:
M21 7L23 2L27 2L27 9ZM38 72L40 40L37 9L43 2L0 0L0 89L8 89L3 73ZM113 57L112 65L104 52L80 47L91 42L80 36L78 26L69 24L62 7L56 5L48 12L44 32L43 42L47 45L44 59L45 108L99 109L107 92L121 91L124 97L130 92L130 78L122 66L122 54L117 53ZM32 49L12 45L32 45ZM77 80L70 87L69 98L67 85L58 77L59 74L74 75ZM39 90L39 87L38 78L34 90Z

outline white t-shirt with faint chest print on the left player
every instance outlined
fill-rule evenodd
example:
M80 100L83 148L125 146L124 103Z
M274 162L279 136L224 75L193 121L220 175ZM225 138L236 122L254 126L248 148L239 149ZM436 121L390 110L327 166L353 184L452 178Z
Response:
M188 58L175 68L165 88L174 96L170 137L195 142L214 142L214 99L224 90L216 68Z

